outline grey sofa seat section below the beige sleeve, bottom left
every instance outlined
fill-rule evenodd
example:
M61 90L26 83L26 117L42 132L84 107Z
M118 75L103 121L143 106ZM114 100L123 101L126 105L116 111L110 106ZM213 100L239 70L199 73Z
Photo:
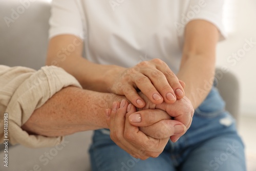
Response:
M8 168L3 164L4 151L0 152L0 170L40 170L47 171L89 171L88 147L92 131L67 136L63 144L49 148L27 148L15 145L9 148ZM37 166L38 165L38 166Z

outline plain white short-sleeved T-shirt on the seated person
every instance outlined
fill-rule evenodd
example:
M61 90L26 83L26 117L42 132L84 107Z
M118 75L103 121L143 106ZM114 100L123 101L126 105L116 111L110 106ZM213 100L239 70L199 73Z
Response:
M93 62L132 67L160 58L177 73L184 27L214 24L224 37L223 0L53 0L49 36L73 34Z

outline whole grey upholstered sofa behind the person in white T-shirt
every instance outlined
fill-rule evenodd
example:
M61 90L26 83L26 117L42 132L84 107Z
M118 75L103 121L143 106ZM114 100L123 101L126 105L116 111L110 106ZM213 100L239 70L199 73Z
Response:
M49 0L0 0L0 63L39 69L45 65L48 44ZM217 82L227 110L239 114L239 84L231 73L223 73ZM232 87L230 86L232 85ZM236 92L236 93L232 93ZM27 148L9 145L9 167L0 170L91 170L88 149L92 131L65 138L61 147ZM3 144L2 144L3 148ZM4 152L0 152L0 156Z

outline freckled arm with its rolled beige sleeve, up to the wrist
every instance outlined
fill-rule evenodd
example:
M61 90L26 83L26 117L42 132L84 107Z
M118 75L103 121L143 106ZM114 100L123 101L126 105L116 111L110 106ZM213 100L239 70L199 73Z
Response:
M36 71L0 65L0 123L8 115L12 144L52 146L62 136L106 128L105 109L111 99L119 98L124 97L82 90L72 75L55 66Z

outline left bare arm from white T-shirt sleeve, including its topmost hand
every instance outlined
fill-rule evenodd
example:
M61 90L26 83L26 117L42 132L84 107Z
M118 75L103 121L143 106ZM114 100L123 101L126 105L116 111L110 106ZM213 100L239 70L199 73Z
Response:
M160 59L132 68L99 65L83 58L82 49L82 40L74 35L55 36L50 39L46 63L65 69L84 89L125 95L137 108L145 105L138 89L155 104L170 104L184 97L177 76Z

